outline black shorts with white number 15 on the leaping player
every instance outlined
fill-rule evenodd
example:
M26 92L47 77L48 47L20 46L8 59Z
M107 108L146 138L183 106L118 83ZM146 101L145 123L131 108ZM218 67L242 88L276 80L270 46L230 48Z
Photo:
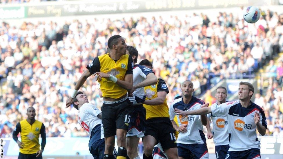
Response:
M127 98L123 102L113 104L102 104L102 124L104 129L104 137L116 135L116 129L128 130L129 113L133 103Z

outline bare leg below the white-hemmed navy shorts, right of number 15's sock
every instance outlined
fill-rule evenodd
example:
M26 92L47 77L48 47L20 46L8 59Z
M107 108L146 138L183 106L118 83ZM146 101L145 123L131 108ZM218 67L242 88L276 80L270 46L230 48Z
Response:
M138 145L139 145L139 138L137 136L126 137L127 154L130 159L139 157L137 153Z

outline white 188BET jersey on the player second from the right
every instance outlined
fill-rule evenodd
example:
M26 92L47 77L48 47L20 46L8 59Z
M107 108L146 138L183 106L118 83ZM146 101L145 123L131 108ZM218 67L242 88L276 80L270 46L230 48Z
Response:
M217 105L217 103L214 103L211 106L215 105ZM207 114L207 118L211 118L212 120L213 141L215 146L229 145L227 117L217 117Z

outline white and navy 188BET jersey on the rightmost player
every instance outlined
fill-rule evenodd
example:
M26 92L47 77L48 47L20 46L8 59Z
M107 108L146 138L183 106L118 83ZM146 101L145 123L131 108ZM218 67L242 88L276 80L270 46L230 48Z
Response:
M263 109L251 102L247 108L242 107L240 100L226 102L211 106L212 116L228 119L229 151L244 151L252 148L260 149L260 141L257 139L255 112L260 115L260 124L267 127Z

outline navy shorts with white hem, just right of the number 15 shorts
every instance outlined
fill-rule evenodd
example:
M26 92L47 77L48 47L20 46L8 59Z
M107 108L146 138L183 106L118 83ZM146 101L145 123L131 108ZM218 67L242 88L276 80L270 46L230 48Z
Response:
M146 109L142 104L133 105L133 111L130 113L130 123L127 133L129 136L144 137L146 130Z

